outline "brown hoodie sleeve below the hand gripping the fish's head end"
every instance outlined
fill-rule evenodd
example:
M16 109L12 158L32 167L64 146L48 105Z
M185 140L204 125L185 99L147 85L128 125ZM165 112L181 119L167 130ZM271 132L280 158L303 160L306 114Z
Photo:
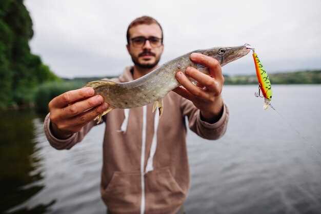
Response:
M213 124L203 121L200 118L200 110L185 98L182 98L180 108L182 109L183 116L188 117L190 129L199 135L199 137L208 140L217 140L224 135L229 120L229 109L225 103L221 118Z

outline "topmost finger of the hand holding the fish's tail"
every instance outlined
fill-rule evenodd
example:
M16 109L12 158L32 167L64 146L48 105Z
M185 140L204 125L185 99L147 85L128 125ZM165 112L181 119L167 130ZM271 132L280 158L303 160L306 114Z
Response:
M95 93L94 89L90 87L81 88L77 90L67 91L59 96L56 96L49 103L50 108L64 108L68 106L68 104L74 103L78 100L83 100L86 98L90 98Z

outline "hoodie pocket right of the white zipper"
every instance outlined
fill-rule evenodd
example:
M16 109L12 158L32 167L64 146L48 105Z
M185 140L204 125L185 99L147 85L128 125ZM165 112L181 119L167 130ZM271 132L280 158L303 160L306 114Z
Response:
M169 167L148 172L145 181L147 213L171 213L184 203L186 193L172 176Z

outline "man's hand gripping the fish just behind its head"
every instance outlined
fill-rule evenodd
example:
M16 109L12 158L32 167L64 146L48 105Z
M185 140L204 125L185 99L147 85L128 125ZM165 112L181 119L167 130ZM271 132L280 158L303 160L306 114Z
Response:
M193 102L200 110L206 122L217 122L223 113L222 92L224 77L217 60L200 53L192 53L190 59L209 68L210 75L206 75L193 67L188 67L183 72L176 73L177 81L183 87L177 87L173 91ZM197 81L195 86L188 76Z

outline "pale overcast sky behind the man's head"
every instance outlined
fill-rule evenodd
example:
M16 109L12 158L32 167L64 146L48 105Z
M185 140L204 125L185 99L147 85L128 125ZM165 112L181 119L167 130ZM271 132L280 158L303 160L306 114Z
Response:
M164 63L196 49L251 44L266 70L321 68L321 1L25 0L32 52L59 76L108 76L131 65L126 30L150 15L163 26ZM223 68L255 73L250 54Z

